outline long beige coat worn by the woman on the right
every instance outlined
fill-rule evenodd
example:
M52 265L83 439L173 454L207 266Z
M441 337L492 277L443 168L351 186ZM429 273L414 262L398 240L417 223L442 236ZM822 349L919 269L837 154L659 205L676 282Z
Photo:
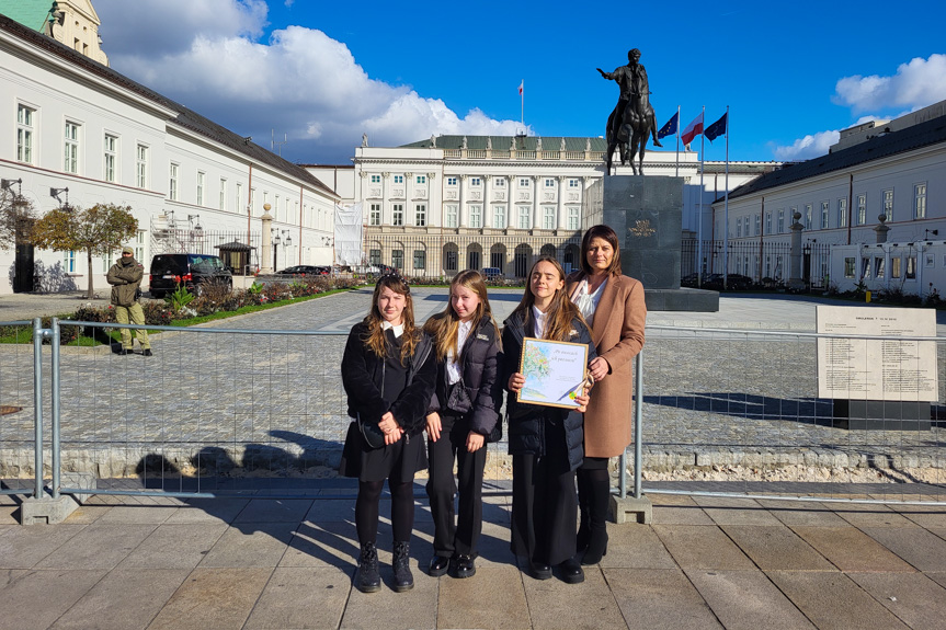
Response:
M566 290L574 295L584 273L568 277ZM643 347L647 306L643 285L628 276L611 276L594 311L591 339L597 356L611 369L604 380L595 382L584 414L585 457L615 457L624 453L631 439L634 402L634 357Z

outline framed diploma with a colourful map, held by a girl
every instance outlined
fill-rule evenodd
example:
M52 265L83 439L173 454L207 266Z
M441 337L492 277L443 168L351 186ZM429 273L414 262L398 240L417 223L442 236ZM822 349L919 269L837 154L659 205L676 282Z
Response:
M518 371L525 375L518 402L575 409L588 378L588 345L527 336Z

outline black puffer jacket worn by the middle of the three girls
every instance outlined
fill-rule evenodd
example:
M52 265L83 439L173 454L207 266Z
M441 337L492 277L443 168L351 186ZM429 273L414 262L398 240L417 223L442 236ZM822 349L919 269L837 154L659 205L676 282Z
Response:
M483 318L476 330L471 330L463 348L460 348L460 374L467 390L466 409L454 409L467 415L470 431L489 435L499 422L499 410L502 406L502 382L500 381L500 365L502 355L500 343L492 320ZM444 411L447 406L449 389L447 387L446 359L437 362L437 386L431 399L429 411ZM459 383L457 383L459 387Z

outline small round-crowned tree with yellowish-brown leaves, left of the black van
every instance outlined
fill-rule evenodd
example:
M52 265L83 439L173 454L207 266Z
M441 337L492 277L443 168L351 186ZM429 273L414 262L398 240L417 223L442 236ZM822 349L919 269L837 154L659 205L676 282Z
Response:
M130 206L95 204L91 208L56 208L33 226L33 244L57 252L84 251L89 262L89 291L92 299L92 256L106 256L138 232L138 219Z

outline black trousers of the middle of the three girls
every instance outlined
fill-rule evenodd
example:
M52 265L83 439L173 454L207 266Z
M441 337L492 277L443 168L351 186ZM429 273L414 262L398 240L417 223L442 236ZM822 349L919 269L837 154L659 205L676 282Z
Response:
M469 422L449 413L441 415L441 437L428 438L428 496L434 519L434 554L477 555L477 542L482 532L482 476L487 448L470 453L466 447ZM454 482L454 460L457 483ZM459 518L454 511L454 496L459 491Z

